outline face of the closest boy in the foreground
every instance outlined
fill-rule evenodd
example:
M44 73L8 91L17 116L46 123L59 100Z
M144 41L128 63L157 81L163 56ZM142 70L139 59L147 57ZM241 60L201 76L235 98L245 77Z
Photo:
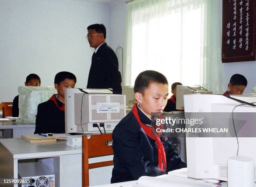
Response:
M135 99L139 102L140 109L151 118L151 112L162 112L167 103L168 85L150 83L142 95L135 93Z

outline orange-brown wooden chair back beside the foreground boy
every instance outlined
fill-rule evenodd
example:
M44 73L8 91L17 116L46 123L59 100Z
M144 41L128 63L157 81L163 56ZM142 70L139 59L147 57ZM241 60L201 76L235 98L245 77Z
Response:
M114 154L112 134L95 134L82 136L82 187L89 186L89 169L111 166L113 160L89 164L89 158Z

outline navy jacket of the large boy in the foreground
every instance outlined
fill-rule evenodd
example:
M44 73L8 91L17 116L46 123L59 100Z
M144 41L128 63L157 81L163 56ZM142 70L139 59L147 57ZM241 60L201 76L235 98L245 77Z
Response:
M138 108L143 124L151 120ZM167 172L187 167L176 152L172 143L164 142ZM138 180L141 176L165 174L158 168L156 142L148 137L138 124L132 112L127 114L113 131L114 168L111 183Z

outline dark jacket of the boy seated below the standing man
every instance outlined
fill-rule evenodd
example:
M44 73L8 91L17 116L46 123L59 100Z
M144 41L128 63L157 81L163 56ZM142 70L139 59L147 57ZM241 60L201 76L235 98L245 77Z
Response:
M62 105L58 99L57 104ZM61 111L51 100L38 104L34 134L39 133L65 133L65 111Z

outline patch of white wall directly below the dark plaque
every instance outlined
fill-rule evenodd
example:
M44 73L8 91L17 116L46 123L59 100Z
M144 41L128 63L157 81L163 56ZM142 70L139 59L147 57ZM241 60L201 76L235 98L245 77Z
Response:
M256 86L256 61L223 63L224 86L228 89L230 77L239 73L246 77L248 84L243 93L252 93L252 88Z

